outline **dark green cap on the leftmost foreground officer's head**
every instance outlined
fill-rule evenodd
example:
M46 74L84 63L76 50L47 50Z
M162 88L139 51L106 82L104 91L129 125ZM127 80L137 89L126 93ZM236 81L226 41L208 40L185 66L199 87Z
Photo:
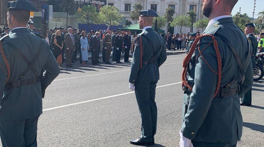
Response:
M31 1L27 0L17 0L17 1L9 1L7 3L8 10L27 10L37 12L38 9Z

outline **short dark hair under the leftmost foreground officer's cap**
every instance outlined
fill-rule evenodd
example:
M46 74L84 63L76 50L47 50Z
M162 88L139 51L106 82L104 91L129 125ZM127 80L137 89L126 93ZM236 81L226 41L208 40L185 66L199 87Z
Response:
M13 15L15 20L18 22L18 23L25 23L27 24L28 23L28 20L29 20L29 11L27 10L15 10L15 9L11 9L11 10L8 10L9 12L9 15Z

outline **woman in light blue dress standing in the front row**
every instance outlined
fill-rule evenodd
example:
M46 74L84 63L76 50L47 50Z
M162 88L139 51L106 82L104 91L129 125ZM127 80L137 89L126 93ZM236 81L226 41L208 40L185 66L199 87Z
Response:
M81 37L81 52L82 52L82 66L86 66L85 61L88 61L89 44L86 37L86 32L82 32Z

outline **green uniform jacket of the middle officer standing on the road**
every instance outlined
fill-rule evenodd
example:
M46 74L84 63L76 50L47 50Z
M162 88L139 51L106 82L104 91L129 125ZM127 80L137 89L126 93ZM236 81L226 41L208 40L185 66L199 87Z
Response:
M140 68L140 37L144 34L147 36L152 42L154 48L151 47L148 40L145 37L142 37L142 50L143 56L142 61L149 61L154 52L158 52L161 49L160 54L157 56L157 61L155 64L146 64L142 65L142 69ZM135 42L135 49L133 54L133 59L131 63L131 71L129 75L129 82L136 83L136 82L151 82L157 81L160 79L159 67L166 61L167 54L166 49L163 43L161 36L156 33L153 28L148 28L143 30L142 33L138 34Z

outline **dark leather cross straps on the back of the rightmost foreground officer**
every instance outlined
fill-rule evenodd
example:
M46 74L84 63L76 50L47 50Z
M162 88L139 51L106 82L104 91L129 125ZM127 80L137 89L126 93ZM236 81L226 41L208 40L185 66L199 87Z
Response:
M236 57L236 61L237 61L238 66L240 68L240 73L242 75L242 80L241 80L240 84L242 84L244 82L244 80L245 80L246 69L247 69L247 67L248 67L248 65L250 63L250 59L251 59L250 58L250 55L251 55L251 47L249 46L248 55L247 55L246 61L244 62L244 64L242 64L242 62L241 62L241 60L240 60L240 58L239 58L239 56L238 56L235 48L229 42L229 40L226 37L224 37L223 35L219 34L219 33L215 33L214 35L217 36L217 37L219 37L224 42L226 42L226 44L231 48L231 51L233 52L234 56ZM249 42L248 42L248 44L249 44ZM233 81L231 81L230 83L228 83L226 85L228 85L228 86L232 85L233 83L235 83L237 81L237 78L238 78L238 75L236 76L236 78Z

